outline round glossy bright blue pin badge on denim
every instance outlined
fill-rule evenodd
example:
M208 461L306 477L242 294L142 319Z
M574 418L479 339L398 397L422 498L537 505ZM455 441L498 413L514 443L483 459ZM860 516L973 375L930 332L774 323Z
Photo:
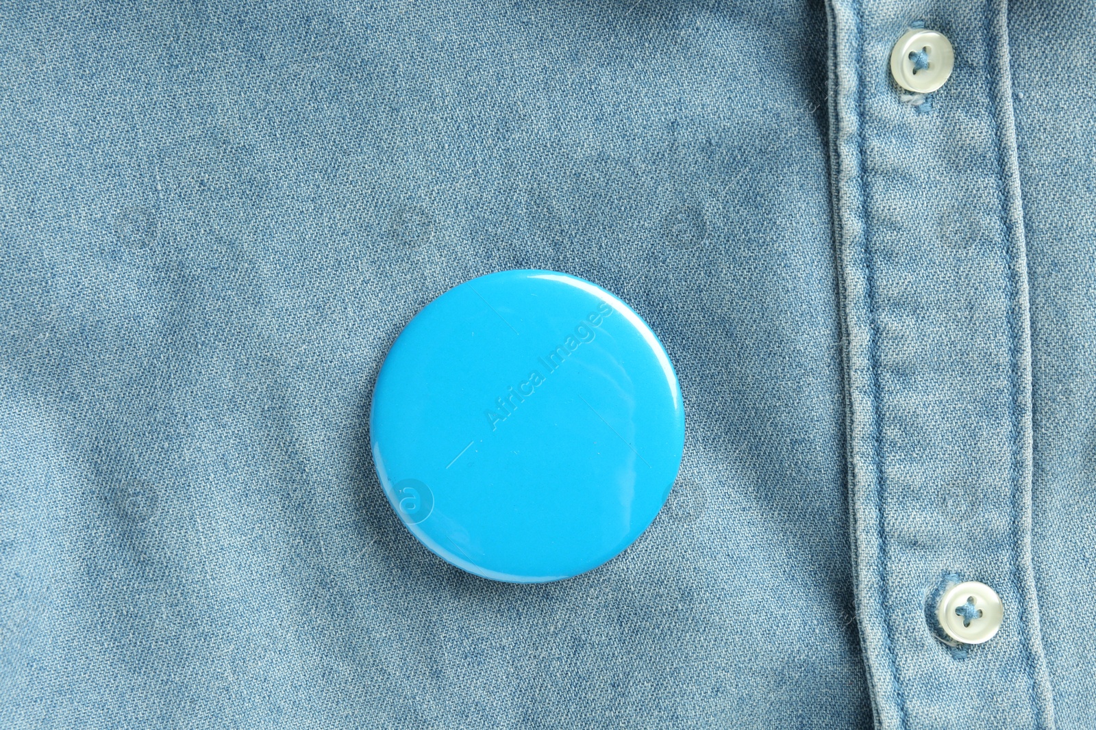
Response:
M627 304L553 271L490 274L400 333L369 414L408 530L469 572L570 578L624 551L665 502L685 413L670 358Z

